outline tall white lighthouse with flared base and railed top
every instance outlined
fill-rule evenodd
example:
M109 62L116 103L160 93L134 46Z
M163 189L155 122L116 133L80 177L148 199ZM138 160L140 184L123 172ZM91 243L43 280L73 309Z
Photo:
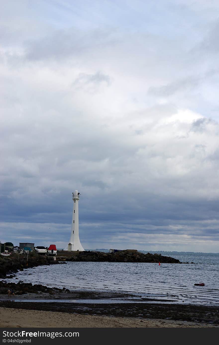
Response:
M72 211L72 223L71 223L71 236L68 245L64 250L68 250L68 252L72 251L79 251L83 252L84 248L82 247L79 239L79 220L78 220L78 201L79 201L80 193L78 190L75 190L72 193L73 199L73 211Z

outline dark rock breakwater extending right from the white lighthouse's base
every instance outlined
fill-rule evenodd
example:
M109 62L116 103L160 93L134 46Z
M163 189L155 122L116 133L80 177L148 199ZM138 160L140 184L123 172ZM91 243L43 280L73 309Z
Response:
M115 253L103 252L83 252L79 255L66 257L66 261L96 261L96 262L148 262L148 263L168 263L182 264L178 259L161 254L129 252L128 250L118 251Z

